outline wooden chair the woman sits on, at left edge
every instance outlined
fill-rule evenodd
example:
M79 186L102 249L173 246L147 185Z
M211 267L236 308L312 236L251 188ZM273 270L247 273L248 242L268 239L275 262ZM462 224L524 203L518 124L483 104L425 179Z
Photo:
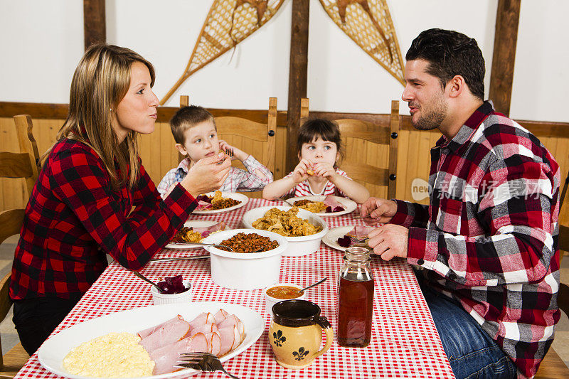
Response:
M16 124L20 152L0 152L0 177L24 178L29 195L38 179L38 147L32 134L31 117L28 115L15 116L14 123ZM23 208L0 212L0 244L6 238L20 233L23 215ZM0 320L4 320L12 305L9 297L9 282L10 274L7 274L0 281ZM28 358L30 358L28 353L23 349L21 343L18 343L0 358L0 378L14 378L18 370L26 364Z

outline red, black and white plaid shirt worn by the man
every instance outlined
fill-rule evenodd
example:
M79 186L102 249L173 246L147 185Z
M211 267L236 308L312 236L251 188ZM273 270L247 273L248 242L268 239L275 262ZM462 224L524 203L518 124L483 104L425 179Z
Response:
M526 129L484 102L431 150L430 205L398 201L408 262L457 299L531 377L560 312L560 171Z

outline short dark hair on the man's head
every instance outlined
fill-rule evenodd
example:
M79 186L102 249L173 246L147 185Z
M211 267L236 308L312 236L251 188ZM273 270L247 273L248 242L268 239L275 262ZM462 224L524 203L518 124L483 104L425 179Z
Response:
M439 78L443 88L454 75L460 75L470 92L484 100L484 57L474 38L457 31L429 29L411 43L406 60L422 59L429 65L427 73Z

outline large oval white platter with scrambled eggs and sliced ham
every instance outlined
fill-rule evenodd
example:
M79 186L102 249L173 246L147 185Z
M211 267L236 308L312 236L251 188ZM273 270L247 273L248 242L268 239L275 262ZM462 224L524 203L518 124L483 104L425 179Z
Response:
M201 330L206 325L212 329L211 324L216 324L217 332ZM72 379L102 378L103 373L107 378L173 378L198 372L174 368L180 352L203 351L207 346L224 362L247 350L263 331L262 316L238 304L145 306L60 331L39 348L38 360L51 373ZM226 342L230 335L231 346Z

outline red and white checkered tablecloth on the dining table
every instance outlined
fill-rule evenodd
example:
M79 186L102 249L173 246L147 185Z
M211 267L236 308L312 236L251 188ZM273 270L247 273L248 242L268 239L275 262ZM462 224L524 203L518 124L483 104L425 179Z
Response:
M216 215L192 215L191 219L223 220L229 228L243 228L241 218L252 208L275 205L271 201L250 199L238 210ZM280 204L278 204L280 205ZM348 215L324 218L329 228L356 225L354 211ZM156 257L203 255L205 250L164 249ZM280 281L309 285L323 277L329 279L307 292L306 299L319 304L336 333L336 278L343 252L322 243L311 255L282 257ZM308 368L282 368L272 356L267 339L269 315L265 313L262 290L238 291L214 284L209 260L161 262L147 265L142 274L150 279L183 274L194 286L193 301L223 301L255 309L265 318L265 333L248 350L226 361L224 367L240 378L454 378L439 335L432 321L413 270L398 258L371 262L376 288L373 299L373 331L366 348L344 348L336 341L324 356ZM112 263L92 285L77 306L53 333L94 317L152 305L149 284ZM39 363L37 353L15 378L58 378ZM200 373L193 378L225 378L223 373Z

